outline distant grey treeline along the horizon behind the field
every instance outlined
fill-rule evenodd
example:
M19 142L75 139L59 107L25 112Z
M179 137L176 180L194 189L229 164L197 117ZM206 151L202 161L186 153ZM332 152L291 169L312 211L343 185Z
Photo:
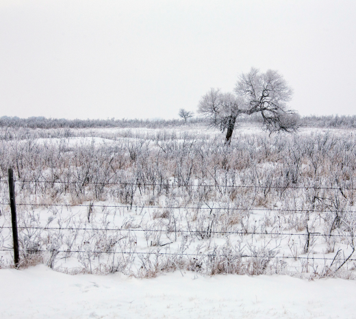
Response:
M259 116L241 117L238 119L242 123L261 123L262 118ZM301 127L325 127L325 128L340 128L340 129L355 129L356 116L316 116L309 115L300 118ZM1 116L0 127L29 127L31 129L86 129L94 127L120 127L120 128L136 128L147 127L151 129L158 129L164 127L179 127L184 125L205 124L204 118L190 118L188 123L184 120L140 120L140 119L126 119L121 120L115 118L107 118L106 120L67 120L66 118L45 118L44 116L31 116L29 118L19 118L17 116Z

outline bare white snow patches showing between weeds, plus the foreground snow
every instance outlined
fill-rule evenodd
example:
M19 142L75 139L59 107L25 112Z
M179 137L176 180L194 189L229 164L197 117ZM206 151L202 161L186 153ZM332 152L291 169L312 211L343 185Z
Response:
M79 133L86 133L84 130L71 130ZM65 144L65 146L75 148L75 146L114 146L116 144L128 145L128 142L137 142L138 140L147 141L147 144L151 142L149 136L144 134L164 133L167 136L173 133L177 133L176 138L172 138L166 141L162 140L165 145L169 143L188 142L192 141L192 135L203 133L207 135L207 139L220 136L224 138L220 132L216 130L208 130L203 127L188 128L190 135L179 135L178 133L185 133L187 129L185 127L178 127L173 129L90 129L87 130L88 134L96 135L99 133L105 133L103 137L98 136L79 136L69 138L36 138L34 142L44 146L58 146ZM256 131L260 131L257 127L249 127L247 125L241 125L236 129L236 136L249 136L253 135ZM332 131L337 137L347 136L352 134L351 130L342 129L301 129L300 134L314 136L316 133L327 133ZM85 135L83 133L83 135ZM112 135L110 135L112 134ZM80 134L79 134L80 135ZM142 136L141 136L142 135ZM108 138L107 138L108 137ZM112 138L112 139L110 139ZM195 138L194 138L195 139ZM8 143L15 143L10 141ZM159 149L153 142L150 144L150 149ZM255 146L253 146L255 147ZM271 148L273 145L270 146ZM264 170L268 173L272 170L276 164L275 162L264 162L257 164L257 168ZM307 169L306 164L301 164L301 169ZM43 173L46 173L43 170ZM197 180L198 181L198 180ZM4 193L7 195L7 193ZM30 196L34 196L31 194ZM36 195L37 196L37 195ZM63 199L65 199L63 197ZM7 201L7 197L5 199ZM140 201L137 201L136 205L148 205L148 199L141 196ZM21 200L19 201L21 203ZM64 201L66 202L66 201ZM61 203L64 203L61 202ZM157 239L155 232L149 234L149 231L144 232L143 229L160 230L164 229L166 225L166 219L160 218L160 208L146 207L139 210L135 207L133 209L112 209L110 205L123 205L112 199L106 199L105 202L91 201L94 204L92 213L90 215L90 222L88 219L88 209L79 206L64 206L61 208L51 209L31 209L26 214L19 215L18 225L23 225L27 222L27 225L36 227L44 227L49 225L50 227L58 227L60 220L68 220L64 222L64 227L84 227L85 231L79 231L77 236L77 242L73 244L73 247L79 247L78 249L84 249L86 246L83 244L84 238L93 238L92 247L95 247L95 241L107 240L110 242L112 231L93 231L95 228L103 229L109 227L110 229L122 229L116 231L116 235L131 235L135 236L135 251L142 253L149 253L155 247L162 249L160 246L151 246L149 242ZM216 202L215 205L223 204ZM89 202L82 203L83 205L89 204ZM214 205L214 202L209 203ZM101 205L107 205L105 209L101 209ZM164 196L157 199L156 205L162 207L164 205L178 205L177 203L171 204L166 202ZM270 204L272 205L272 204ZM283 209L283 202L277 201L274 203L273 208L281 207ZM99 206L99 207L97 207ZM133 205L135 206L135 205ZM257 207L257 209L250 209L249 215L251 225L266 225L265 230L270 233L288 232L298 235L294 241L292 241L291 235L275 235L273 240L268 242L268 248L279 249L279 256L290 256L290 253L298 256L319 257L320 260L313 260L313 270L316 266L319 266L318 270L325 265L326 261L322 259L327 257L330 260L327 263L331 263L331 259L335 257L335 253L339 248L344 251L344 256L348 256L351 253L351 246L344 239L343 242L338 242L334 251L331 253L325 240L322 236L314 236L312 248L308 254L305 254L303 249L303 231L294 230L289 227L287 222L283 224L283 221L279 220L278 223L273 219L275 216L279 218L275 213L268 213L263 209L263 205ZM272 206L268 206L272 207ZM288 208L285 206L284 208ZM355 207L348 207L351 210L355 210ZM157 212L157 216L153 216ZM190 211L188 209L172 209L171 216L179 217L181 223L179 227L186 229L186 222L190 220ZM3 209L2 216L0 217L1 224L10 227L10 212L8 207ZM276 212L277 214L278 212ZM284 214L286 218L298 218L301 214ZM188 217L187 217L188 216ZM316 215L310 214L310 220ZM51 218L52 222L49 222ZM244 216L242 216L244 218ZM270 224L264 222L264 219L272 220ZM296 220L297 222L298 220ZM161 222L161 224L160 224ZM290 219L288 222L294 222ZM278 224L281 230L276 230ZM201 224L203 225L203 224ZM161 228L160 228L161 227ZM238 227L238 226L233 226ZM92 228L92 229L91 229ZM129 229L127 229L129 228ZM136 229L137 228L137 229ZM314 231L324 233L324 225L319 223L315 226ZM131 229L131 230L130 230ZM234 228L236 231L240 231L239 228ZM10 236L11 229L1 229L5 234L6 247L11 246ZM8 233L6 233L8 231ZM51 234L52 241L55 241L59 231L52 229L48 232ZM107 235L109 233L109 235ZM8 234L8 235L6 235ZM20 235L25 235L25 231L20 229ZM114 233L115 234L115 233ZM71 238L73 233L68 231L62 231L63 238ZM300 235L300 236L299 236ZM90 237L91 236L91 237ZM97 236L97 237L95 237ZM149 238L147 239L146 238ZM196 236L195 236L196 237ZM238 244L238 241L242 236L237 234L231 234L226 237L214 237L211 240L196 239L194 235L191 236L192 242L186 248L186 253L211 253L209 247L223 246L229 244L230 246ZM59 237L58 237L59 238ZM162 232L162 236L157 239L157 242L161 241L164 244L164 250L162 252L179 253L181 247L183 247L183 236L178 235L172 244L173 235L167 231ZM244 235L243 243L249 243L253 245L265 244L264 235ZM297 243L299 242L299 244ZM74 242L74 241L73 241ZM62 240L59 248L66 250L64 245L65 240ZM121 242L120 242L121 243ZM51 243L49 243L51 244ZM44 246L45 249L49 249L49 244ZM204 244L205 246L200 246ZM88 244L89 247L89 244ZM89 248L90 248L89 247ZM199 248L200 247L200 248ZM299 251L293 249L299 249ZM94 249L94 248L93 248ZM205 250L204 250L205 249ZM249 251L246 252L249 255ZM1 255L5 257L4 260L9 261L12 259L12 252ZM84 271L83 258L81 262L77 258L77 255L73 257L64 258L63 255L58 255L58 258L53 262L54 271L45 266L44 264L27 269L14 270L14 269L0 269L0 319L1 318L356 318L356 281L346 281L344 279L318 279L316 281L307 281L307 279L297 279L296 277L283 276L283 275L261 275L257 277L247 277L238 275L215 275L209 277L207 275L196 274L194 272L168 272L160 273L158 277L153 279L137 279L134 277L127 277L123 274L112 275L66 275L63 272L71 272L71 270L77 270L78 272ZM0 256L1 257L1 256ZM47 262L49 255L44 255L44 262ZM105 263L105 257L110 261L109 256L101 255L101 261ZM1 261L1 259L0 259ZM133 270L135 267L140 269L140 260L135 259L133 262ZM288 259L287 272L292 274L303 273L303 276L308 277L312 274L311 264L307 264L306 270L303 270L303 264L305 265L305 259L300 261L294 261ZM93 269L97 269L94 266L98 266L99 259L92 259ZM111 261L110 261L111 262ZM96 264L98 263L98 264ZM303 264L302 264L303 263ZM6 263L5 263L6 264ZM7 265L7 264L6 264ZM91 266L90 264L90 271ZM308 272L309 265L309 272ZM1 266L1 265L0 265ZM344 268L348 267L345 265ZM88 267L86 269L88 271ZM351 265L347 270L354 271L355 264ZM61 272L62 271L62 272ZM306 272L305 272L306 271ZM75 271L74 271L75 272ZM72 273L74 273L72 272ZM128 273L128 272L125 272ZM136 272L137 273L137 272ZM182 277L183 275L183 277ZM303 277L301 276L301 277ZM313 278L312 276L309 276Z

